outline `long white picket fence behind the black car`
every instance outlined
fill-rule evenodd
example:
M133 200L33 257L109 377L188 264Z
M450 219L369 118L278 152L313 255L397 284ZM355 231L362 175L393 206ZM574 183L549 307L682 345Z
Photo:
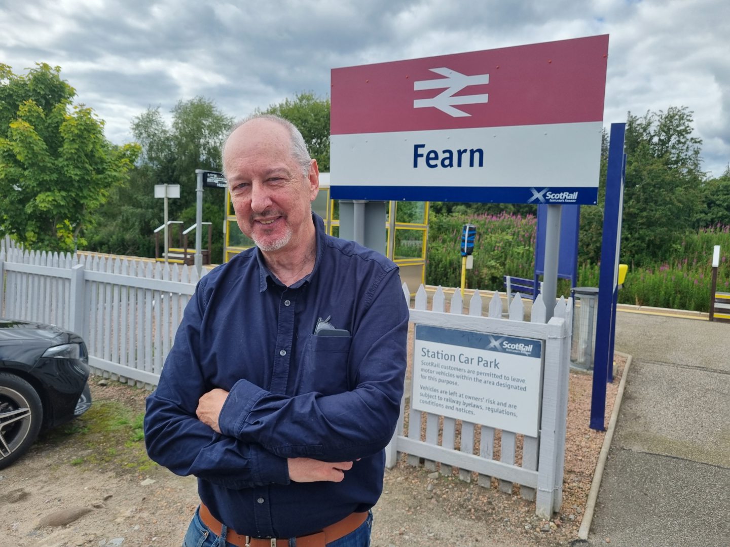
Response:
M198 282L188 266L13 247L0 249L3 274L1 317L72 330L94 372L147 387L158 383Z

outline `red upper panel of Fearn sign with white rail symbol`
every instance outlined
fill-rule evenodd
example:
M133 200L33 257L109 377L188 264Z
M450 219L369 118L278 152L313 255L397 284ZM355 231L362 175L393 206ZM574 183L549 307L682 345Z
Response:
M603 120L608 35L331 71L331 133Z

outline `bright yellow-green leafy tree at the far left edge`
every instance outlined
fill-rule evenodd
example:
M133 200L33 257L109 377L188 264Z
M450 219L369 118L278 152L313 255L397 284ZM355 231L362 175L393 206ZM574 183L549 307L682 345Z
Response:
M70 251L139 153L104 138L104 122L72 104L61 68L37 63L19 76L0 64L0 236Z

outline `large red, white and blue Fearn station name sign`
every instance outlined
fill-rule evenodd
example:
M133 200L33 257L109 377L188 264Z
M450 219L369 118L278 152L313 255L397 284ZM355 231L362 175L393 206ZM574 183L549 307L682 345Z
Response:
M331 71L334 199L596 203L608 36Z

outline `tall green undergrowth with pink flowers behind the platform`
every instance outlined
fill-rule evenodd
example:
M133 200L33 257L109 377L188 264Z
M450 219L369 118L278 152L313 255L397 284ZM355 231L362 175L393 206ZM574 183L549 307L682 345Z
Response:
M531 278L534 271L536 219L518 214L450 214L431 216L426 283L461 285L461 227L477 226L474 268L466 273L466 286L504 291L502 276ZM708 311L712 250L721 246L718 290L730 292L730 226L702 228L664 249L664 260L630 265L618 292L620 303L658 308ZM622 254L623 256L623 254ZM580 287L599 286L600 265L583 261L578 268ZM558 280L558 295L569 295L569 281Z

